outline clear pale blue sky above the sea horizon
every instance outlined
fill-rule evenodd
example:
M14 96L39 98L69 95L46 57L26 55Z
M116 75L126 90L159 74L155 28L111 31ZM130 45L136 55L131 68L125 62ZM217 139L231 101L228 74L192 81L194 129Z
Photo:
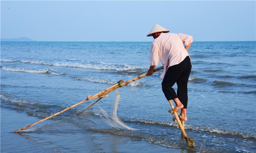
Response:
M255 1L1 1L1 38L152 41L155 23L194 41L255 41Z

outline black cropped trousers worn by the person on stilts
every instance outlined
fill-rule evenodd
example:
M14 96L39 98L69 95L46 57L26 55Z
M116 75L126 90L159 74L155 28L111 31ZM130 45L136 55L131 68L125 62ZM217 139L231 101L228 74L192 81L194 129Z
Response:
M188 78L191 67L190 58L187 56L181 63L168 68L162 82L162 90L166 99L169 101L179 98L185 109L188 105ZM177 95L172 88L175 82L178 86Z

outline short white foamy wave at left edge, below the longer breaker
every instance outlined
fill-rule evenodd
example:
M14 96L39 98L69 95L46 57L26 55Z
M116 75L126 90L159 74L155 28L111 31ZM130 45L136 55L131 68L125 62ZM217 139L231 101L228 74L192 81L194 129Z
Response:
M48 73L51 75L63 75L65 73L56 73L51 70L32 70L32 69L25 69L25 68L11 68L7 66L1 66L4 71L14 71L14 72L26 72L26 73Z

